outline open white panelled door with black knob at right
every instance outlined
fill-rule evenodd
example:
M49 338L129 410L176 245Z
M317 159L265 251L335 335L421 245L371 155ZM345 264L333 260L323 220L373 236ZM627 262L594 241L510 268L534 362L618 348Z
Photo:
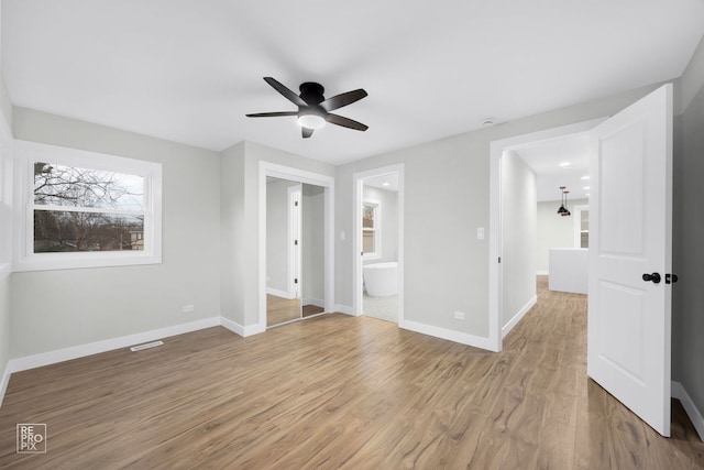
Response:
M587 373L670 436L672 85L591 135Z

